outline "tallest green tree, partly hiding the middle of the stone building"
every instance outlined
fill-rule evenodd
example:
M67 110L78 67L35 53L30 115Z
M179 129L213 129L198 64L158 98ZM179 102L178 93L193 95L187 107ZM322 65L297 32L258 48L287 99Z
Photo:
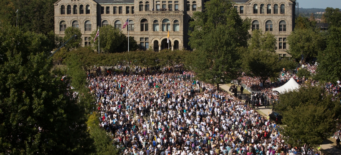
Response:
M238 47L247 47L250 20L241 19L230 0L211 0L193 13L190 46L194 48L193 70L197 78L216 84L229 83L240 71Z

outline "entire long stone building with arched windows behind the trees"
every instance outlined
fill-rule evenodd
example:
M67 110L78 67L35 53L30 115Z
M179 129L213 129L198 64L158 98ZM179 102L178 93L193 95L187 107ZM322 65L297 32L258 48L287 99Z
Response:
M281 47L278 52L286 54L285 38L294 27L295 0L234 1L241 17L252 19L250 32L262 29L275 34ZM126 35L129 30L140 49L190 49L188 23L203 5L204 0L59 0L54 4L55 33L63 36L66 27L78 27L83 45L88 46L92 31L110 24ZM128 16L129 26L121 29Z

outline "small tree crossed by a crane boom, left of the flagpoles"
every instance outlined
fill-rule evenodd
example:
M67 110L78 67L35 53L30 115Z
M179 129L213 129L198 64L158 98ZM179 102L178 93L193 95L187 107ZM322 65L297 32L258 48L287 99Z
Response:
M80 32L79 28L68 27L65 30L65 36L63 37L63 42L68 41L74 34L77 37L72 38L67 44L65 44L65 48L67 50L78 48L82 46L82 33Z

